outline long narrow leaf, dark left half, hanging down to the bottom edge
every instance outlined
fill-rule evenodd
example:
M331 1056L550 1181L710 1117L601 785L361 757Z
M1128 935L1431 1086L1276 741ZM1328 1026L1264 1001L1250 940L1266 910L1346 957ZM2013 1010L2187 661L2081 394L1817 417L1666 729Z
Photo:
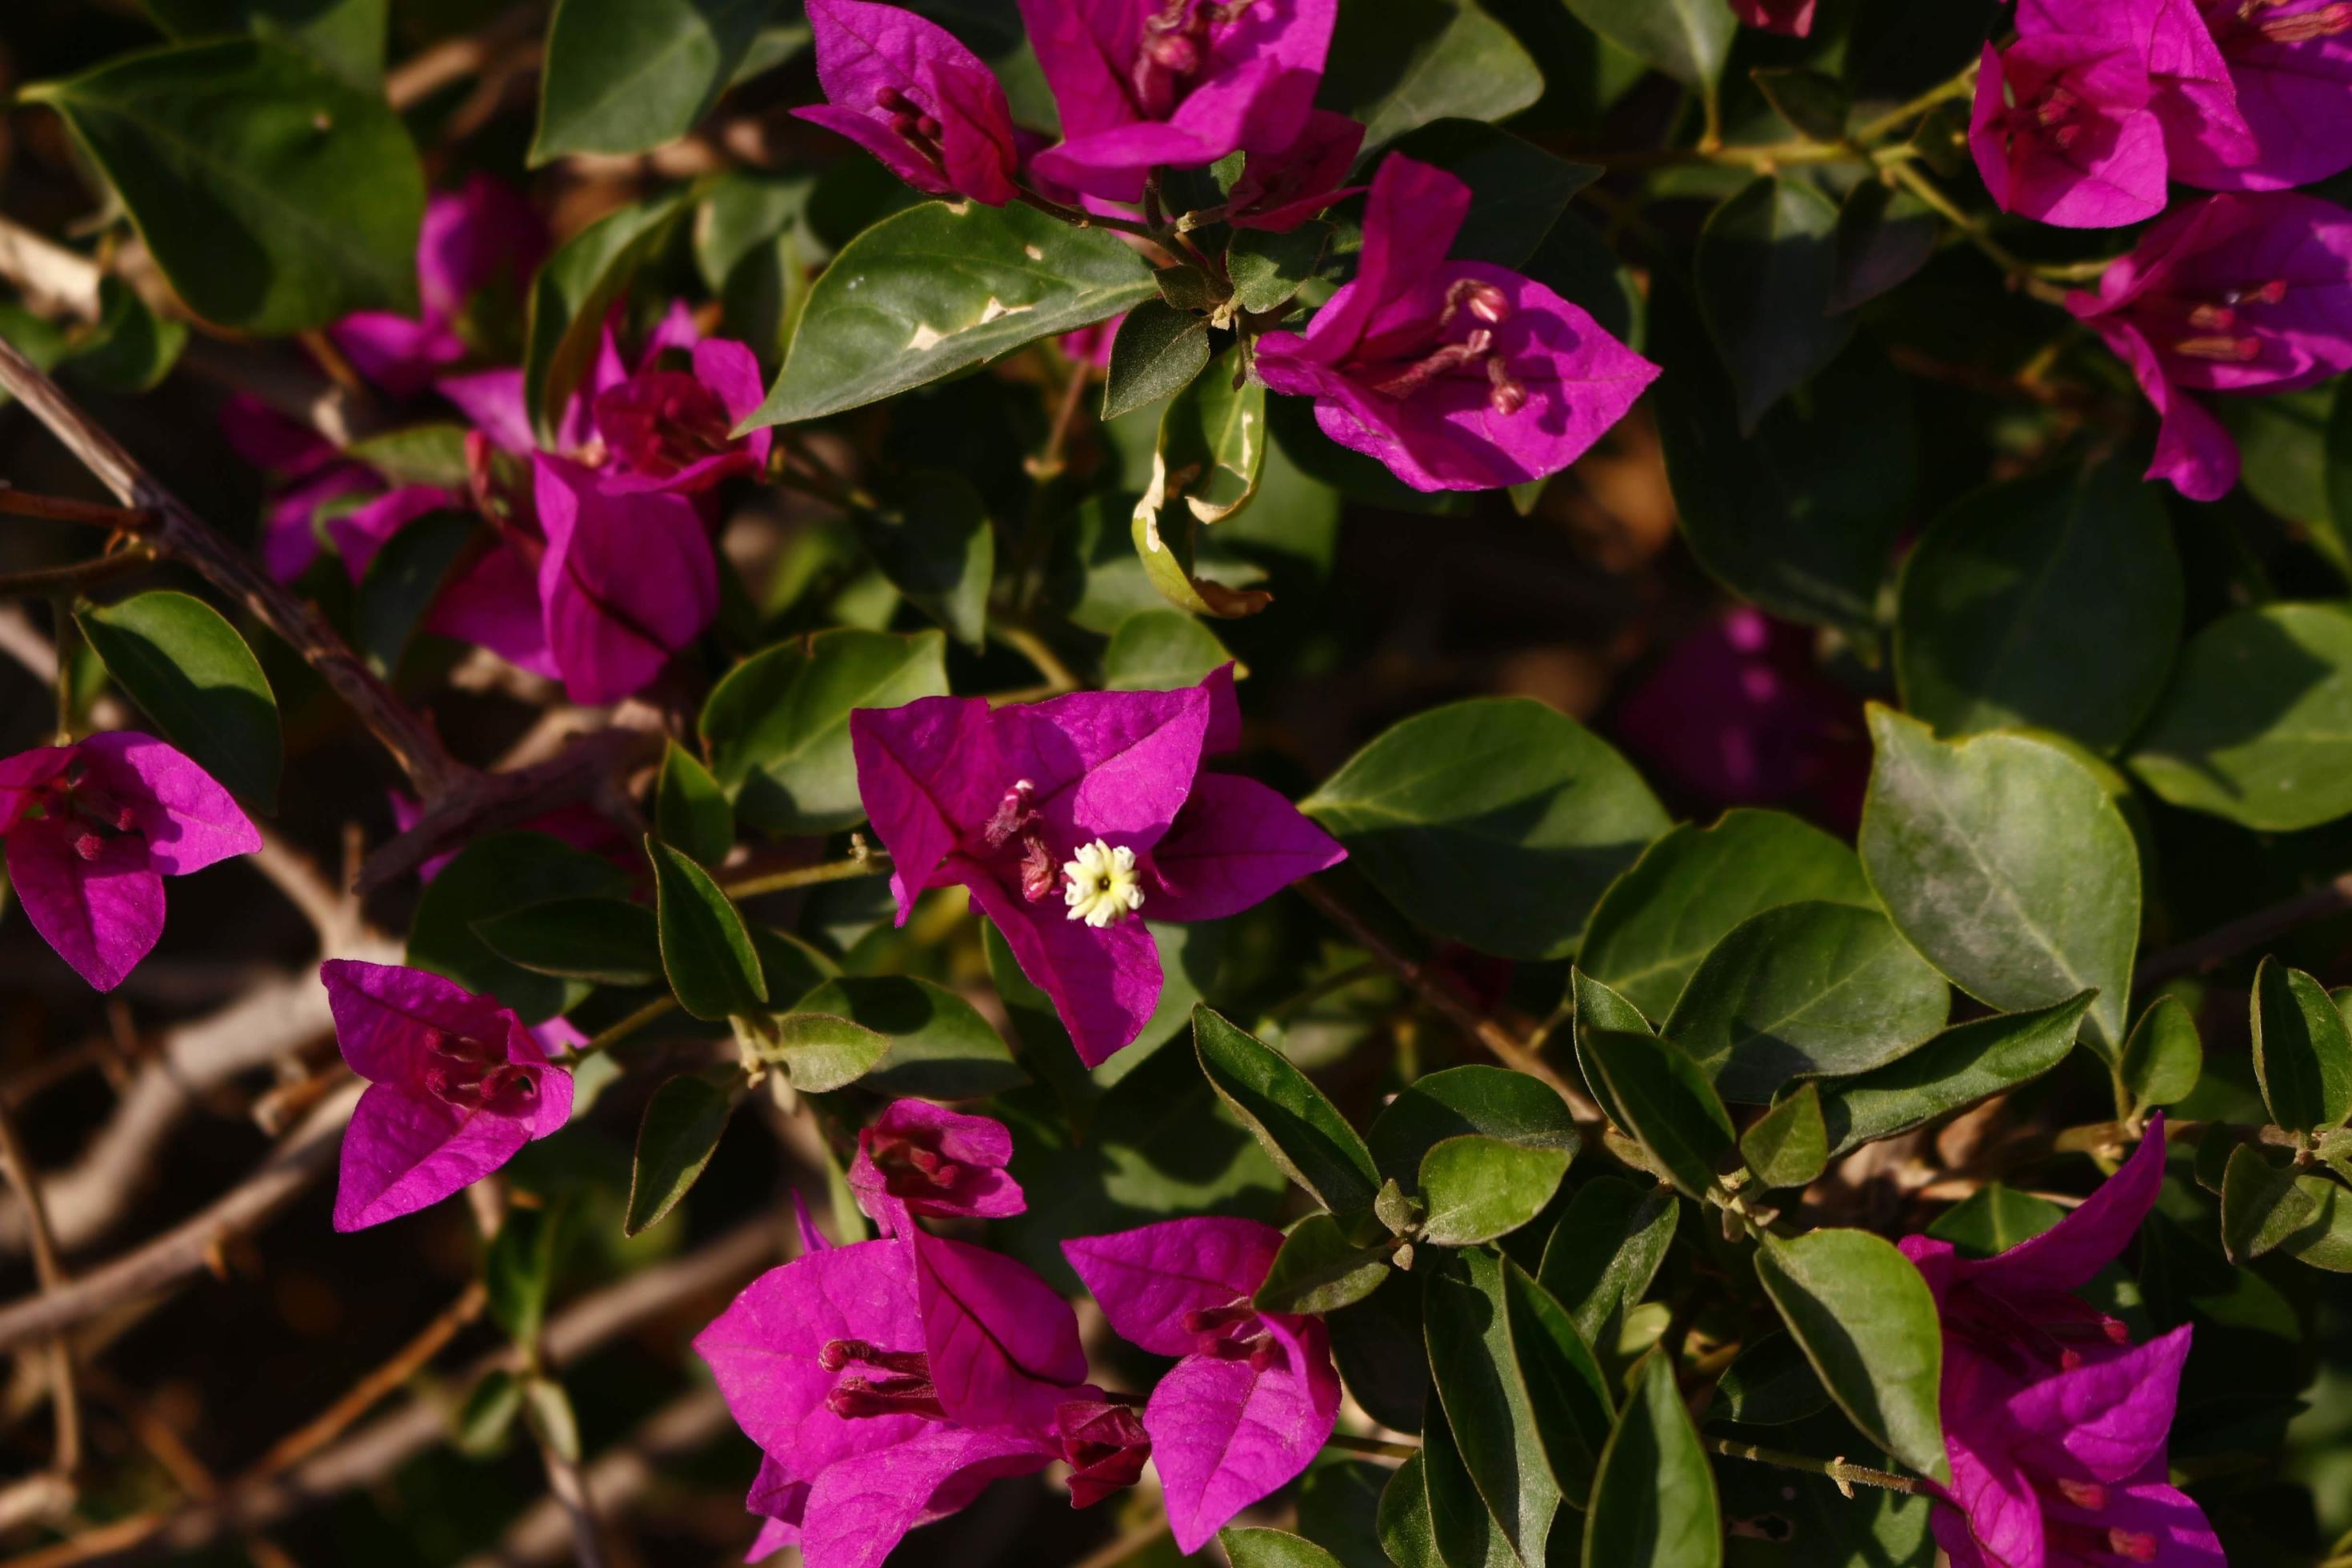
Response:
M1559 1512L1559 1481L1512 1345L1503 1269L1486 1251L1456 1253L1428 1269L1421 1321L1430 1385L1444 1403L1463 1469L1503 1540L1522 1561L1541 1563Z

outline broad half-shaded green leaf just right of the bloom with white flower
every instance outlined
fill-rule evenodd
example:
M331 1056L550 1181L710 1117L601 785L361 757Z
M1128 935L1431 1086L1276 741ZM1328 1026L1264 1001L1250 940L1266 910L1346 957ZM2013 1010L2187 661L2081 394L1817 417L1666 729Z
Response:
M1668 827L1606 741L1531 698L1392 724L1298 809L1414 922L1512 959L1573 952L1602 891Z

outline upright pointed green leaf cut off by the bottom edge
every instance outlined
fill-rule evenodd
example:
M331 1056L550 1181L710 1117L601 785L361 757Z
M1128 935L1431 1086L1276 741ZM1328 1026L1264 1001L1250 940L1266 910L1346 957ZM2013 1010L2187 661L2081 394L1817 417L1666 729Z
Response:
M1729 12L1726 12L1729 14ZM1665 1352L1642 1356L1585 1521L1585 1568L1719 1568L1715 1472Z

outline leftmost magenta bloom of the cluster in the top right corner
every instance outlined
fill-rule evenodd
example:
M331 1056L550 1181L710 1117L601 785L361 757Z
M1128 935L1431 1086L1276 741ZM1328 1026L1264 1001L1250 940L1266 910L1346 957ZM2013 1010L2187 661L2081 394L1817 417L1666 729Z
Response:
M1969 150L2002 212L2114 228L2164 212L2164 125L2138 54L2079 33L1985 45Z

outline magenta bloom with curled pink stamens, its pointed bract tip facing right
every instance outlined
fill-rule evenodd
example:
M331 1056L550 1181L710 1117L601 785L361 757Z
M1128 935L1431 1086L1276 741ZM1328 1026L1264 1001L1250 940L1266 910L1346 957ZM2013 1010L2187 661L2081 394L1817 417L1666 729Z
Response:
M1414 489L1555 475L1625 416L1658 367L1541 282L1446 261L1470 188L1390 153L1364 252L1305 334L1258 339L1258 374L1315 400L1315 423Z

